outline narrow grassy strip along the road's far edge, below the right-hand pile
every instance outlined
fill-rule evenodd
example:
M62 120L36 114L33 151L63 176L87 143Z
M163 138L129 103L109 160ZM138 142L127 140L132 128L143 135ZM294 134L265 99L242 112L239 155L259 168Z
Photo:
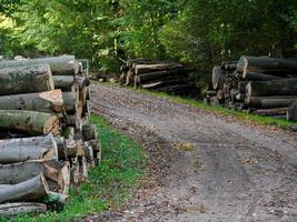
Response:
M234 117L238 120L242 120L242 121L247 121L247 122L255 122L255 123L258 123L261 125L269 125L270 124L270 125L277 125L277 127L283 128L283 129L287 129L287 128L296 124L296 122L287 121L285 119L278 119L278 118L274 118L274 117L263 117L263 115L253 114L253 113L244 113L244 112L227 109L224 107L212 107L212 105L206 104L202 101L185 99L185 98L177 97L177 95L170 95L170 94L167 94L164 92L156 92L156 91L149 91L149 90L142 90L142 89L135 89L135 88L130 88L130 89L138 91L138 92L141 92L141 93L147 94L147 95L155 95L155 97L168 99L168 100L176 101L176 102L179 102L182 104L188 104L191 107L204 109L204 110L217 113L217 114L221 114L225 117Z

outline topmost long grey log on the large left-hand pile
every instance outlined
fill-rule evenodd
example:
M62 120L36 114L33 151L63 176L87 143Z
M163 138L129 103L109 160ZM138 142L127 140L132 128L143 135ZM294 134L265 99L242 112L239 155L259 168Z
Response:
M16 67L28 67L34 64L49 64L52 74L57 75L68 75L77 74L79 65L75 61L75 56L61 56L41 59L30 59L21 61L2 61L0 62L0 69L3 68L16 68ZM43 90L44 91L44 90Z

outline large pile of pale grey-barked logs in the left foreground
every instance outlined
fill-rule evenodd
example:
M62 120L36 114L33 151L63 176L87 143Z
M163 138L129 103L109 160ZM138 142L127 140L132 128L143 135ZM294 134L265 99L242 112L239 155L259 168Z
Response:
M0 62L0 215L62 206L99 163L87 71L73 56Z

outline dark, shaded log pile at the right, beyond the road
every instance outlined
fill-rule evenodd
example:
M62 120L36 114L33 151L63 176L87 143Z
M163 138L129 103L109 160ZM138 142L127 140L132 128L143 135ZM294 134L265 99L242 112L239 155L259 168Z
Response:
M212 88L206 98L212 105L297 120L296 60L242 56L214 68Z

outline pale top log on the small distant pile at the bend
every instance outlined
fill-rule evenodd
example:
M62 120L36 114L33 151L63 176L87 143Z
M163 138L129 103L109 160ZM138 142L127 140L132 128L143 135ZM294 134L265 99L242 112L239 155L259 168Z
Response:
M182 64L179 63L137 64L135 65L135 73L140 74L154 71L172 70L178 68L182 68Z

